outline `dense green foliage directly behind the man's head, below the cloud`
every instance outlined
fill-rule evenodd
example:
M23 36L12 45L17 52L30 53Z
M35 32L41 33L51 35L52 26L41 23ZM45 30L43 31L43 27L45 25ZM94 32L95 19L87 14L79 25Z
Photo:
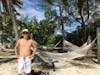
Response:
M33 18L31 21L28 17L21 18L18 21L19 34L21 36L21 30L24 28L29 29L30 37L35 39L40 45L54 44L54 33L57 27L56 21L50 20L52 18L46 18L38 21ZM52 38L53 37L53 38Z

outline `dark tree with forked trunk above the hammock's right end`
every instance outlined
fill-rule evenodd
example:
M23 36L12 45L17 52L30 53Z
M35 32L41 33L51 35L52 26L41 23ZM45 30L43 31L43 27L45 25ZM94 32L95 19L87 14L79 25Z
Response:
M78 12L79 15L81 17L81 24L82 24L82 33L83 33L83 43L87 40L88 43L91 42L91 37L90 37L90 23L89 23L89 17L93 17L91 15L90 11L93 11L93 7L97 6L97 2L98 0L77 0L77 6L78 6ZM95 3L95 6L94 6ZM91 10L92 9L92 10ZM96 8L95 8L96 10ZM95 11L93 11L92 13L95 13ZM87 17L86 17L87 15ZM90 21L91 22L91 21ZM86 32L86 24L88 26L88 33ZM86 35L87 34L87 35ZM88 39L86 39L88 38Z

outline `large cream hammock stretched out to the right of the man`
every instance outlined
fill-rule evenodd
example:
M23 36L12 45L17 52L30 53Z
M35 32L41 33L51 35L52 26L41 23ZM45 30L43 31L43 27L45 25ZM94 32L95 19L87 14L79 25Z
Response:
M88 50L92 48L95 41L96 38L85 47L78 47L67 41L67 45L70 45L70 49L72 49L73 51L68 53L51 53L46 51L39 51L37 55L46 63L49 63L48 58L52 58L53 61L71 61L75 58L86 56Z

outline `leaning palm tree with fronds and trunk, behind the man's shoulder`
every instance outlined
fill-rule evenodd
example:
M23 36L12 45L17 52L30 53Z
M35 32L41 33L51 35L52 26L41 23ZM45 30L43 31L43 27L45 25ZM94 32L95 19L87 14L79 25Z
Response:
M22 5L22 2L20 0L1 0L3 4L3 8L6 12L9 13L12 24L13 24L13 30L15 33L15 39L18 40L18 27L17 27L17 22L16 22L16 14L17 11L14 7L14 5L20 7Z

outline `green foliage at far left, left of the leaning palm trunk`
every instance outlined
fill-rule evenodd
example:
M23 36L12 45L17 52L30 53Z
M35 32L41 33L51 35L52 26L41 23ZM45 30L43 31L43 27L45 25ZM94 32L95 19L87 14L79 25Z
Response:
M3 15L4 16L2 18L2 23L0 24L0 31L1 31L0 41L2 43L12 43L15 40L14 40L14 33L11 25L12 24L11 19L8 13L4 12Z

